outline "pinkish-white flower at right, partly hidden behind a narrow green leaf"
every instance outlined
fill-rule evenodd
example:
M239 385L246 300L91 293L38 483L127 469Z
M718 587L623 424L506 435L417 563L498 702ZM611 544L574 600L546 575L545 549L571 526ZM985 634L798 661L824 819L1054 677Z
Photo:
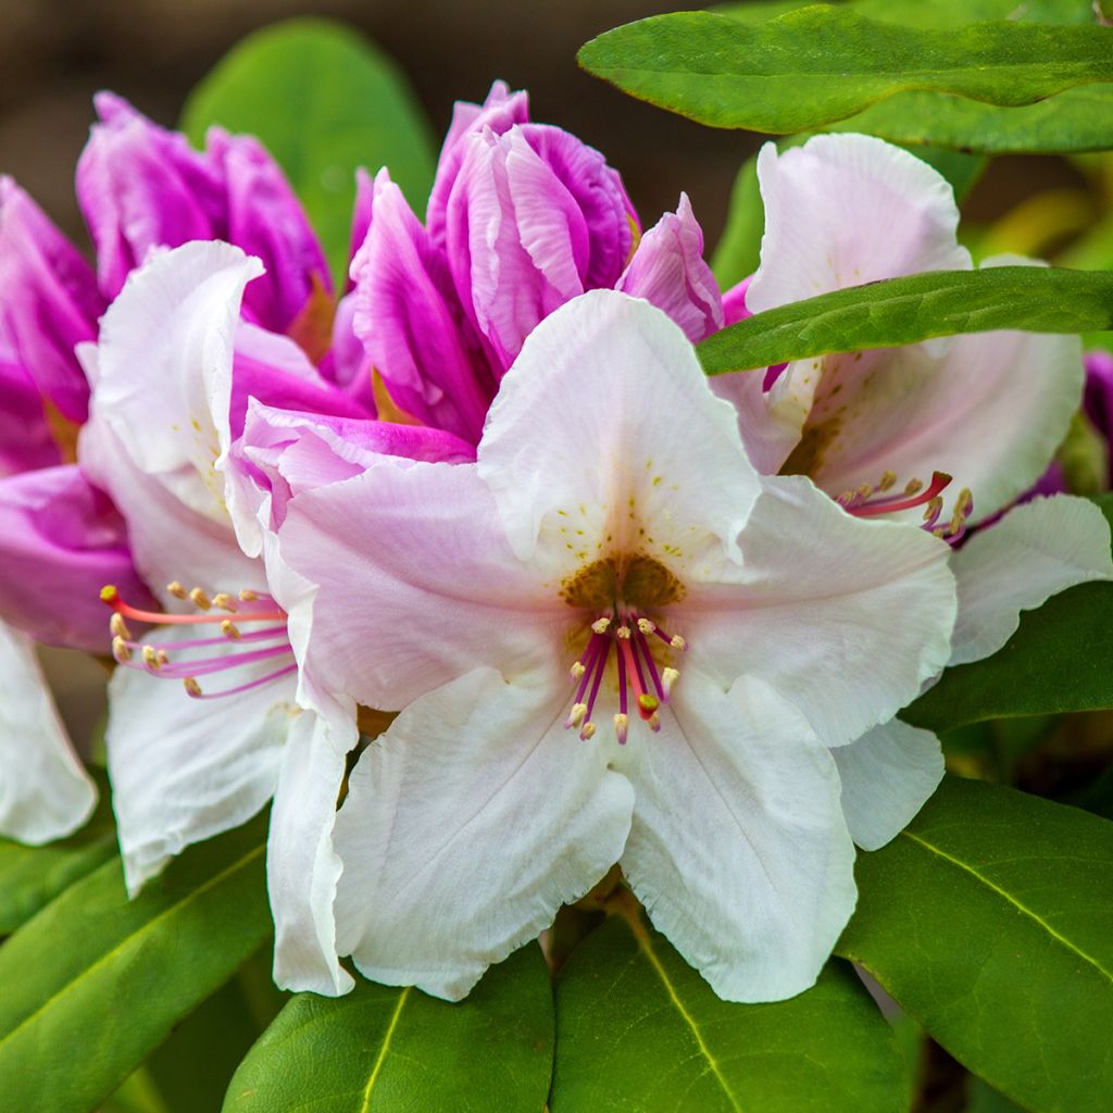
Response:
M971 266L949 185L879 139L823 136L782 155L768 145L758 179L761 265L726 295L731 322L846 286ZM759 470L806 474L856 516L904 520L957 543L967 524L1031 499L954 555L959 609L949 664L995 652L1021 611L1056 592L1113 578L1099 509L1036 498L1041 484L1055 490L1048 469L1081 403L1076 337L981 333L711 383L735 403ZM845 794L865 770L887 770L888 790L874 807L847 812L866 849L888 841L943 776L937 739L896 719L834 752Z

